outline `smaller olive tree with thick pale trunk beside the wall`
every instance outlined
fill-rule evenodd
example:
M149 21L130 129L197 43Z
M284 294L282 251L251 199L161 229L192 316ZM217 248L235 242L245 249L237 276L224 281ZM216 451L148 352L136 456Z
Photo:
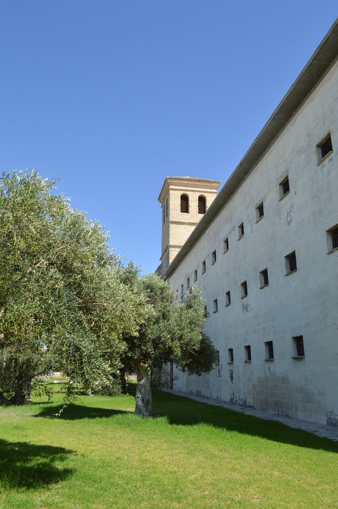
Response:
M156 274L141 277L138 284L151 314L137 336L125 335L124 362L132 363L137 374L135 413L149 417L150 378L155 366L172 361L182 371L201 375L212 370L217 353L203 334L206 313L197 288L175 305L170 286Z

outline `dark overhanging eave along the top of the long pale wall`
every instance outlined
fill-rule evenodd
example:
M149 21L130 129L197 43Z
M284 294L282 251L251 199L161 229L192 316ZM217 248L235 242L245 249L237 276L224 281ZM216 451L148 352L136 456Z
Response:
M253 167L261 159L273 140L280 134L286 124L294 115L295 111L310 94L316 83L328 70L338 55L338 18L311 56L309 62L300 72L292 86L274 110L271 117L260 131L253 144L245 153L234 172L222 187L218 196L214 199L190 237L182 245L175 258L166 271L170 276L186 254L192 249L199 237L205 232L212 220L217 216L223 206L228 202L234 191L251 172Z

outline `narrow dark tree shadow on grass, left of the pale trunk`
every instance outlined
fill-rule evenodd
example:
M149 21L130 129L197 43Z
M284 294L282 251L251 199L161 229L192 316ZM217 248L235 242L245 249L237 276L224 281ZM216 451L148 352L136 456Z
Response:
M60 404L46 406L42 408L41 412L33 415L33 417L56 418L55 414L57 414L61 408L62 405ZM61 412L57 418L62 420L97 419L112 417L113 415L130 413L132 412L127 412L124 410L114 410L109 408L86 407L84 405L69 404L65 407L63 412Z

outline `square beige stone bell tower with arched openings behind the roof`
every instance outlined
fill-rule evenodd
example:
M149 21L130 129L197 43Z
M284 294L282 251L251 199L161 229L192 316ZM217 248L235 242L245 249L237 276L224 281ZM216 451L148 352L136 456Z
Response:
M162 205L161 265L164 276L176 254L203 217L221 185L219 180L166 177L159 202Z

